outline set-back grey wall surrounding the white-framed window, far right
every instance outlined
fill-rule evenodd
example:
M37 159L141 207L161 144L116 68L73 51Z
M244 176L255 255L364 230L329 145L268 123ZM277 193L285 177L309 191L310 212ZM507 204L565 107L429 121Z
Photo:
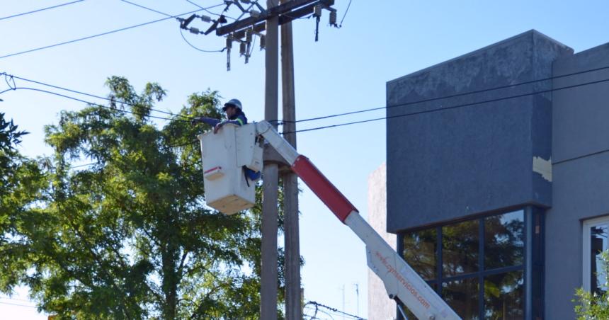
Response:
M609 66L609 44L554 62L554 76ZM609 79L609 70L554 79L554 89ZM609 215L609 82L557 90L552 113L552 198L546 215L546 319L574 319L582 284L583 219Z

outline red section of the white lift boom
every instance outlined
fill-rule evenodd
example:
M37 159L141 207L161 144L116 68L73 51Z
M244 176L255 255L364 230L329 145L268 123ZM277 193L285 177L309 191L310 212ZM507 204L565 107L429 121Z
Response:
M338 189L324 176L319 169L307 159L306 156L298 156L292 170L309 186L309 188L321 199L327 207L341 222L345 223L347 216L357 209L338 191Z

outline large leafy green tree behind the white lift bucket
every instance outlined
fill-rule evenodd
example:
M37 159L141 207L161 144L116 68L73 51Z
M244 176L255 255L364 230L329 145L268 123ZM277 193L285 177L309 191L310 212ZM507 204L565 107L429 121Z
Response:
M45 127L55 154L31 168L29 198L0 216L10 221L0 290L28 285L40 309L65 319L257 318L261 206L232 216L205 206L193 141L204 127L188 120L220 117L217 92L193 94L159 129L150 113L161 86L106 84L109 106Z

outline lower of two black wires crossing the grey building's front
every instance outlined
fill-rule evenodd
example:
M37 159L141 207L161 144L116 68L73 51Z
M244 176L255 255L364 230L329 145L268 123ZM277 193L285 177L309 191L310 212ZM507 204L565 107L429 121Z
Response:
M464 107L469 107L469 106L472 106L472 105L481 105L483 103L491 103L491 102L497 102L497 101L503 101L503 100L513 99L513 98L521 98L521 97L525 97L525 96L533 96L535 94L540 94L540 93L550 93L550 92L554 92L554 91L567 90L567 89L570 89L570 88L577 88L579 86L588 86L588 85L591 85L591 84L601 84L601 83L607 82L607 81L609 81L609 79L603 79L603 80L598 80L598 81L591 81L591 82L586 82L586 83L583 83L583 84L574 84L572 86L564 86L564 87L561 87L561 88L552 88L552 89L547 89L547 90L542 90L542 91L523 93L523 94L518 94L518 95L515 95L515 96L506 96L506 97L502 97L502 98L495 98L495 99L490 99L490 100L477 101L477 102L473 102L473 103L463 103L463 104L460 104L460 105L451 105L449 107L443 107L443 108L436 108L436 109L431 109L431 110L417 111L417 112L414 112L414 113L404 113L404 114L401 114L401 115L391 115L389 117L382 117L382 118L374 118L374 119L368 119L368 120L346 122L346 123L341 123L341 124L338 124L338 125L326 125L326 126L323 126L323 127L313 127L313 128L309 128L309 129L295 130L295 131L283 132L283 133L286 135L286 134L296 133L296 132L307 132L307 131L328 129L328 128L331 128L331 127L342 127L342 126L345 126L345 125L356 125L356 124L359 124L359 123L372 122L372 121L378 121L378 120L387 120L387 119L394 119L394 118L402 118L402 117L408 117L410 115L421 115L423 113L433 113L433 112L436 112L436 111L450 110L450 109L456 109L456 108L464 108ZM389 108L389 107L382 107L382 108Z

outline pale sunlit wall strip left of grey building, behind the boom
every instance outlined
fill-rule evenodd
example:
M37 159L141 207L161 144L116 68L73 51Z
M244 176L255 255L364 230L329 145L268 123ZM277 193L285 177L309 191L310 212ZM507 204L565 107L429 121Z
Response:
M387 166L382 164L368 176L368 221L389 245L396 248L395 234L387 230ZM368 270L368 319L392 320L396 316L394 300L387 297L385 285Z

